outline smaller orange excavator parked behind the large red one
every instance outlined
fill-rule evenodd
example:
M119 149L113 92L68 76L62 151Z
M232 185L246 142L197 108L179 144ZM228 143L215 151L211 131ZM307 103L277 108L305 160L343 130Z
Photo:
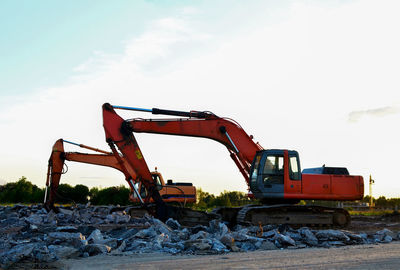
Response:
M97 154L65 152L64 143L89 149L97 152ZM127 164L123 157L119 156L117 158L111 152L59 139L55 142L52 148L48 162L46 192L44 198L44 204L47 209L54 207L61 175L66 173L66 171L64 171L66 160L117 169L125 175L125 180L131 189L131 195L129 197L130 201L134 203L144 203L142 198L148 197L147 190L140 182L140 175L135 169L133 169L133 167ZM184 204L196 202L196 188L191 183L173 183L172 180L168 180L167 183L165 183L161 173L157 172L157 170L151 172L151 177L153 183L160 192L160 196L165 202ZM148 202L152 203L153 200L150 198Z

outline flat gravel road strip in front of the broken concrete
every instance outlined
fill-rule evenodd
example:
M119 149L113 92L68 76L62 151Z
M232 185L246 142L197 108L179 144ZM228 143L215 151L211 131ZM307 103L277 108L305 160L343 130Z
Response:
M339 248L307 248L206 256L99 255L62 260L60 269L399 269L400 242Z

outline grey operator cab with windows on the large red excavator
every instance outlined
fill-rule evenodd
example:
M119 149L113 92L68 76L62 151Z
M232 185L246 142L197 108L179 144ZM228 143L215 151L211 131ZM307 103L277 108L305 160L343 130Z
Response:
M287 182L299 180L300 161L296 151L271 149L257 152L250 169L250 189L256 198L283 199Z

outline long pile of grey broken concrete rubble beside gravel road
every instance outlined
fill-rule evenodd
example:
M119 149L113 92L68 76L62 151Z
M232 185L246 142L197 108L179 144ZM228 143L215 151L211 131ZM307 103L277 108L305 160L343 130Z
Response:
M41 205L0 207L0 267L98 254L220 254L400 240L400 233L388 229L374 234L292 229L286 225L236 225L229 229L219 220L211 221L208 226L187 228L173 219L163 223L148 215L132 218L126 210L78 205L60 207L59 213L47 213Z

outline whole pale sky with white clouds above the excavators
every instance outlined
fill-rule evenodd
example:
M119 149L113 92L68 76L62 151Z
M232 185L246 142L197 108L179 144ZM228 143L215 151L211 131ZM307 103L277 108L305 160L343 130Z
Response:
M54 142L107 150L101 106L212 111L302 168L347 167L400 197L398 1L0 1L0 184L44 186ZM118 112L124 118L151 118ZM135 134L151 170L246 191L226 148ZM81 151L67 145L66 151ZM125 184L67 163L61 182Z

